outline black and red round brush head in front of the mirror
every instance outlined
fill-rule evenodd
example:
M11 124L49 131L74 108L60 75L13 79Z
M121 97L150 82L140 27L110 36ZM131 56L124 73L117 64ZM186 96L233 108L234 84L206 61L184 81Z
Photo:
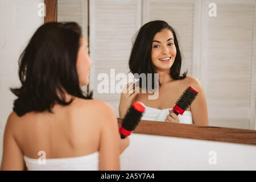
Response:
M122 125L119 128L121 138L129 136L132 131L137 127L138 123L141 121L144 110L145 106L141 102L133 102L133 105L131 105L131 107L127 111L125 117L122 120Z

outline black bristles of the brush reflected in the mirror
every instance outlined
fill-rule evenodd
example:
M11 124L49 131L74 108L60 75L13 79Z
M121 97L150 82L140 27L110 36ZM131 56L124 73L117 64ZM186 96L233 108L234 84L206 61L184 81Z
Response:
M187 110L188 107L195 100L196 96L197 96L197 93L195 93L193 90L187 88L187 89L185 89L183 94L180 96L179 100L177 100L176 105L179 106L183 110Z

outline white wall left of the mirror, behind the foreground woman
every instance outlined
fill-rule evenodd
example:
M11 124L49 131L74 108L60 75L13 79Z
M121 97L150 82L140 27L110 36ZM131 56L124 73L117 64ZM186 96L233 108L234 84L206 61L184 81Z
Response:
M38 16L43 0L0 0L0 163L3 132L12 111L14 94L9 88L19 86L18 58L35 30L44 23Z

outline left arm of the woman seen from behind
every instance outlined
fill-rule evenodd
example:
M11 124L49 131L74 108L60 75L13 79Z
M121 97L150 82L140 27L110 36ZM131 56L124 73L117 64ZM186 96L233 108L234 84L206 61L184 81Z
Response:
M1 170L23 170L25 164L23 153L20 150L14 138L15 118L18 117L14 112L9 115L5 126L5 135L3 137L3 156Z

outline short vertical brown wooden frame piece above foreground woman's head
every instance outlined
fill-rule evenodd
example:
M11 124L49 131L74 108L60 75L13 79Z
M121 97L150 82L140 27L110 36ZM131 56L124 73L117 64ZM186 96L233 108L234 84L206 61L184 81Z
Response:
M46 16L44 23L57 22L57 0L44 0L46 4Z

